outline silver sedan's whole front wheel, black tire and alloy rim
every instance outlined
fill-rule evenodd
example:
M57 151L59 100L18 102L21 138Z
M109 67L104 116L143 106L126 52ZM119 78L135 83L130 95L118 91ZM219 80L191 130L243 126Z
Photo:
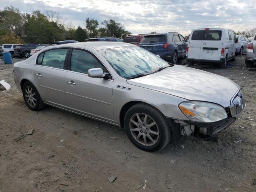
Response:
M148 152L159 151L170 142L171 131L166 117L145 103L136 104L126 112L124 128L130 141Z

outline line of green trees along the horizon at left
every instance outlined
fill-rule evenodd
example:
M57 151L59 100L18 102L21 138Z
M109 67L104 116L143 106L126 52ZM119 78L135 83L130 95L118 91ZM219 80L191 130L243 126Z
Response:
M82 42L86 38L124 38L131 34L114 20L104 20L100 24L95 19L86 18L84 27L75 27L52 10L45 10L45 13L36 10L28 14L7 6L0 10L0 44L50 44L61 40Z

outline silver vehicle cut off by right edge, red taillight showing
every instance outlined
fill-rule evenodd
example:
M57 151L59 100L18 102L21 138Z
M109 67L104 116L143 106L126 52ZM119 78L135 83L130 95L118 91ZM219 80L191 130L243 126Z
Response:
M245 63L246 67L256 66L256 34L252 41L247 44Z

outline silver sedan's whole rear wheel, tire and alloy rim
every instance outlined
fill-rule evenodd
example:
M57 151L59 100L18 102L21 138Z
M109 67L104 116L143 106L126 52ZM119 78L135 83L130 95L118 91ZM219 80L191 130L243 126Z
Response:
M36 87L31 82L27 81L24 83L22 93L24 101L31 110L38 111L45 107Z

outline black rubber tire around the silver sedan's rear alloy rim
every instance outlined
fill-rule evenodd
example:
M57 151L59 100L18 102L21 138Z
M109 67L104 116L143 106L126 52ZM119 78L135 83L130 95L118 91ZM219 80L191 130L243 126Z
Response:
M36 99L35 106L31 106L29 104L29 101L26 99L27 98L27 96L25 94L26 88L32 88L32 90L33 90L32 92L34 94L34 98ZM27 82L24 83L24 85L22 87L22 93L23 93L23 98L24 98L25 103L27 104L28 108L30 108L31 110L39 111L39 110L42 110L43 108L45 108L45 104L42 101L42 99L40 97L40 94L38 93L36 87L31 82L27 81Z

